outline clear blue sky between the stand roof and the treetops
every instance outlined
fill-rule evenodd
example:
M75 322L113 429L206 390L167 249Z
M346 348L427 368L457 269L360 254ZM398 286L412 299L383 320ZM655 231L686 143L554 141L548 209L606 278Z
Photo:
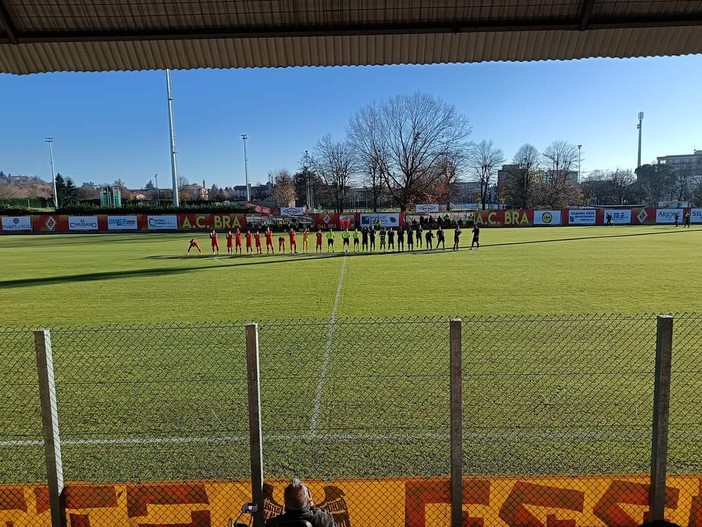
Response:
M0 75L0 170L77 183L170 181L165 73ZM252 183L298 167L319 138L344 134L373 100L425 91L454 104L511 159L526 142L582 144L582 170L634 168L702 148L702 56L435 66L173 72L179 173L208 186L242 184L247 133Z

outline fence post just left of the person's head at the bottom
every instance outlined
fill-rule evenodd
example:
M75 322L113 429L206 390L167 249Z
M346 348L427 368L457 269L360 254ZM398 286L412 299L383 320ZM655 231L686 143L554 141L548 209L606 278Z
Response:
M251 448L251 497L256 505L254 527L263 527L263 443L261 384L258 362L258 324L246 324L246 371L249 387L249 446Z

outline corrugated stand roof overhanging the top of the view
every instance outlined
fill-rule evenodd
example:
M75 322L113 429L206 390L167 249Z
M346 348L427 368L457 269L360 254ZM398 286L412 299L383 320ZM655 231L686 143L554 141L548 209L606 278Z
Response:
M700 0L0 0L0 72L702 53Z

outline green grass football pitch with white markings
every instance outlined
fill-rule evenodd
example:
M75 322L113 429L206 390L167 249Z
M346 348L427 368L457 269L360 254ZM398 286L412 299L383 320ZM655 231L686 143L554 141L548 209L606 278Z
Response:
M186 256L190 237L0 237L3 325L52 329L67 480L246 477L246 321L267 477L446 474L457 315L467 474L643 473L654 314L702 311L699 227L484 229L479 251L466 231L459 251L409 254L212 256L200 236ZM2 482L42 479L32 344L0 355L17 380ZM671 459L699 471L702 376L684 375Z

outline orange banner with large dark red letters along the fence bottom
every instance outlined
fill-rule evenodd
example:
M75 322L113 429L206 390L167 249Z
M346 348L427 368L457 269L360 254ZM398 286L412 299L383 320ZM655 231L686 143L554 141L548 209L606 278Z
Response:
M289 481L263 486L264 521L283 512ZM450 524L448 478L307 480L315 505L342 527L445 527ZM702 475L669 476L665 518L702 524ZM649 514L648 476L463 478L463 524L505 527L640 525ZM136 484L66 483L72 525L228 525L251 499L250 481ZM50 525L45 485L0 486L0 524ZM245 520L244 523L247 523Z

